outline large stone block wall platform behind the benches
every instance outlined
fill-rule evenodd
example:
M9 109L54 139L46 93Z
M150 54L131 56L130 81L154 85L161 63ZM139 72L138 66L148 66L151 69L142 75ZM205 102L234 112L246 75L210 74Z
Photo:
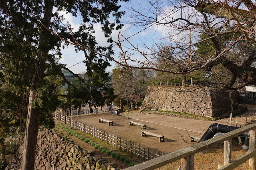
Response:
M140 111L174 111L214 117L229 110L230 103L228 94L220 88L148 87Z

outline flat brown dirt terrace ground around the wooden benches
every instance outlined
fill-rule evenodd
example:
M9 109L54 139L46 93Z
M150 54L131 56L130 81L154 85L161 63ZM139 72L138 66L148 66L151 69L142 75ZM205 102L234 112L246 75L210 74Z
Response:
M189 141L189 136L201 137L212 123L216 123L216 121L185 119L145 113L129 113L122 116L104 113L74 118L107 132L125 137L128 140L139 142L139 144L143 144L149 148L157 149L163 152L163 154L196 144L195 142ZM108 126L108 123L105 122L99 123L99 118L113 121L113 126ZM129 121L147 125L146 131L163 135L164 142L159 142L158 138L154 136L142 137L141 131L143 130L141 126L129 126Z

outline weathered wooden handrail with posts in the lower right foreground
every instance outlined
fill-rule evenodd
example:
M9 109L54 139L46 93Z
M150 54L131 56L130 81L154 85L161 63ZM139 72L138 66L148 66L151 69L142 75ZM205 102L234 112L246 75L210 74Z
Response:
M249 143L248 152L231 162L231 154L232 154L231 139L248 131L250 131L250 143ZM245 127L233 130L231 132L222 134L220 136L208 139L204 142L194 144L187 148L183 148L181 150L177 150L175 152L165 154L158 158L148 160L141 164L131 166L129 168L126 168L125 170L153 170L155 168L159 168L161 166L164 166L176 160L181 160L181 167L180 167L181 170L193 170L194 154L211 147L213 144L220 143L220 142L224 142L224 166L220 168L220 170L232 170L237 166L239 166L240 164L246 162L246 160L249 160L249 169L254 170L255 155L256 155L255 132L256 132L256 123L253 123Z

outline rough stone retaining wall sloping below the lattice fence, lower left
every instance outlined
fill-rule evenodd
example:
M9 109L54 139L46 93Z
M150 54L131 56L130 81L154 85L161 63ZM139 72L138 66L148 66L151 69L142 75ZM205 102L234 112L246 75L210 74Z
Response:
M6 170L20 169L23 147L20 146ZM38 132L36 170L116 170L106 164L107 160L94 155L93 151L58 136L54 130L44 128Z

